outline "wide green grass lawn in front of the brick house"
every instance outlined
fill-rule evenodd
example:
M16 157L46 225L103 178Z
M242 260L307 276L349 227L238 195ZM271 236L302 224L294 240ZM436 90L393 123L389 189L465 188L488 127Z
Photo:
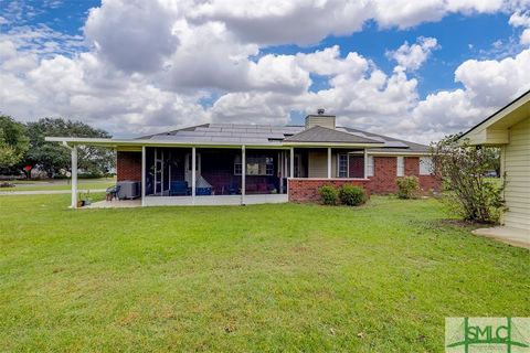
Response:
M0 196L0 351L442 352L530 313L530 252L434 200L66 208Z

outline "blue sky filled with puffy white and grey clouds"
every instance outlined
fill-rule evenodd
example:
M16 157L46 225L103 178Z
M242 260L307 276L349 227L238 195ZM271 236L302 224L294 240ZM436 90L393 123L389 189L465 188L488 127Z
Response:
M384 1L0 0L0 110L131 136L325 107L427 140L530 88L528 0Z

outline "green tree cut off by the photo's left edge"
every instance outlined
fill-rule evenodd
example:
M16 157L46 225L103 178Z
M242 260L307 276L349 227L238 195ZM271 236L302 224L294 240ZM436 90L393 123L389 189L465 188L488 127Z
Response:
M0 116L0 169L19 163L30 148L24 125L10 116Z

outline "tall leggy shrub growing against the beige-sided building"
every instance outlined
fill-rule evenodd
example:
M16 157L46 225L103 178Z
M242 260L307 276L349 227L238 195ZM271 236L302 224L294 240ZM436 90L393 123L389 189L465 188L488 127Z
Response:
M447 197L466 221L497 222L504 208L502 188L484 175L492 165L491 150L469 146L457 135L432 146L435 175Z

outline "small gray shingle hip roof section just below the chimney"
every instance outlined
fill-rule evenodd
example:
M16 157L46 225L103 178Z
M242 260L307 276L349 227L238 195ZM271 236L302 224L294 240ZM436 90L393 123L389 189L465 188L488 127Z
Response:
M336 142L336 143L381 143L353 133L342 132L321 126L314 126L285 139L287 142Z

